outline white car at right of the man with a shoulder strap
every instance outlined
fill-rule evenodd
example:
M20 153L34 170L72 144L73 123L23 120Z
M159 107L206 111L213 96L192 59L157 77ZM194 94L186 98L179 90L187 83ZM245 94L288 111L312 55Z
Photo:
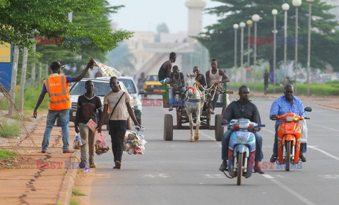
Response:
M138 87L136 86L136 83L134 82L132 77L122 76L118 77L118 80L119 82L124 82L124 85L129 91L129 95L133 97L134 104L131 104L131 106L133 106L134 108L134 115L136 115L136 120L138 120L138 123L141 124L141 113L143 108L141 94L145 94L145 90L138 90Z

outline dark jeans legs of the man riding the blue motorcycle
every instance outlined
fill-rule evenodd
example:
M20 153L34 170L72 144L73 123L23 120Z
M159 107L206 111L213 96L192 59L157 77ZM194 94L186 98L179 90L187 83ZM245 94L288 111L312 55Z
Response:
M228 159L228 146L230 144L230 138L233 130L227 130L225 134L222 136L222 143L221 143L221 158L222 160ZM254 133L256 137L256 157L254 161L261 161L263 159L263 152L261 148L263 147L263 138L259 135L258 132Z

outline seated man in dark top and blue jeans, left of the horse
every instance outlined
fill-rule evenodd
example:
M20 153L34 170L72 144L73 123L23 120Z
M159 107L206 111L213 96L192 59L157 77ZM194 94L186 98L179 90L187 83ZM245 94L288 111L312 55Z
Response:
M169 94L169 111L173 110L173 101L174 101L174 92L179 90L180 93L185 92L185 81L184 81L184 74L179 72L178 66L173 66L173 72L169 74L169 87L168 94Z

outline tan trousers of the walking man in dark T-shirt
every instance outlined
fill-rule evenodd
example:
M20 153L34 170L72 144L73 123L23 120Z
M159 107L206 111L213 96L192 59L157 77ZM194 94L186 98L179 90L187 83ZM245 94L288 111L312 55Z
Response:
M80 136L82 139L84 139L87 143L81 147L81 162L86 162L87 161L87 152L88 149L90 150L88 152L88 155L90 156L90 163L94 163L94 151L95 151L95 132L90 130L88 126L84 123L79 123L79 131L80 131ZM88 147L88 149L87 149Z

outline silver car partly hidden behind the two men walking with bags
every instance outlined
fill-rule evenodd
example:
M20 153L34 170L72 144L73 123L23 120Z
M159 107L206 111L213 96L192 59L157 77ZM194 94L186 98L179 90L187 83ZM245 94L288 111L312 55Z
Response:
M97 79L97 78L84 78L83 80L79 82L74 82L73 85L69 89L69 94L71 98L71 108L69 110L69 121L74 122L76 120L76 110L77 110L77 103L78 103L78 97L82 94L85 94L85 82L87 80L92 80L94 84L94 94L97 95L101 99L102 106L104 105L104 97L105 95L110 92L112 89L109 87L109 79L105 77L105 79ZM119 83L119 87L121 90L124 92L129 92L124 85L124 82ZM130 104L135 104L133 97L130 96ZM108 125L108 117L109 117L109 112L107 113L105 123L104 125ZM97 120L99 120L97 116ZM129 117L128 118L128 123L127 123L127 129L131 130L132 128L132 120ZM57 120L57 126L59 126L60 123ZM107 126L107 130L109 130L109 127Z

